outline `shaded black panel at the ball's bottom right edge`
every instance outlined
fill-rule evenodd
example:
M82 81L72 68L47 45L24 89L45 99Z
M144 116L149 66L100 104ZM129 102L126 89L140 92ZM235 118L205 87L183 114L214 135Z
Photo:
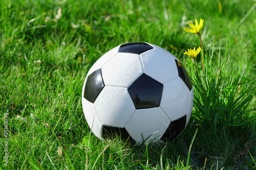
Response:
M168 128L160 138L162 141L173 141L176 139L186 127L187 116L184 115L181 118L170 122Z

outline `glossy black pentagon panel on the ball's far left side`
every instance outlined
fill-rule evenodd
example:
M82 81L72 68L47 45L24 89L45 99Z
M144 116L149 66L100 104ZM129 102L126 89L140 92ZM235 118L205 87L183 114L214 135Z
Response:
M89 102L94 103L104 86L101 69L97 69L88 76L83 97Z

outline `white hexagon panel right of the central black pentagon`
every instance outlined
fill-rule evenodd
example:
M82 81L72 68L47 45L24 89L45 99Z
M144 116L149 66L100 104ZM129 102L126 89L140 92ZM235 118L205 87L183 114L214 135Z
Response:
M180 77L163 84L160 107L173 122L188 112L190 91Z

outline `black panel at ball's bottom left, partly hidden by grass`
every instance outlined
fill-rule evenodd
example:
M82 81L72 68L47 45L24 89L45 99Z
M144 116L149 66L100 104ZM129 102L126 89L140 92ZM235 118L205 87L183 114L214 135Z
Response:
M131 142L134 141L130 134L125 128L113 127L113 126L102 126L102 137L105 138L115 138L120 136L121 139L128 139Z

